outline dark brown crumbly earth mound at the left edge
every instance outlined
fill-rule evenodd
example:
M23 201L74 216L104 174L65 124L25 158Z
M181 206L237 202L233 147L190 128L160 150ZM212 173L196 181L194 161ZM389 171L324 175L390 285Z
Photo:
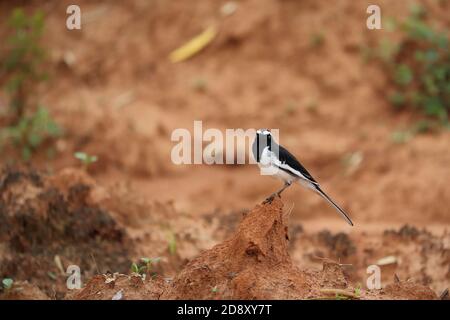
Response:
M47 177L6 169L0 176L0 278L29 279L51 298L67 291L66 268L82 277L130 266L123 227L92 199L95 185L82 171Z

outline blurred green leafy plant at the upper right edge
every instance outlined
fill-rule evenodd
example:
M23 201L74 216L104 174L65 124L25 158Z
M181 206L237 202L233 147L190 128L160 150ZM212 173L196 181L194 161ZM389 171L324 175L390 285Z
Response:
M383 39L374 56L378 58L394 90L389 101L397 108L412 107L448 127L450 110L450 50L448 32L427 21L427 11L413 5L404 21L391 20L389 29L401 39Z

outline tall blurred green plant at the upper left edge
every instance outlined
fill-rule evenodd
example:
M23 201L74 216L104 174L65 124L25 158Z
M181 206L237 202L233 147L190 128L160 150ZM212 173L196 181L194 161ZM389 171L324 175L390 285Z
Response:
M30 160L45 142L60 136L62 130L49 112L35 102L33 88L47 79L43 71L46 52L40 45L44 15L37 11L27 16L15 9L8 18L9 36L5 41L0 75L5 78L9 113L7 126L0 130L0 148L12 145L22 159Z

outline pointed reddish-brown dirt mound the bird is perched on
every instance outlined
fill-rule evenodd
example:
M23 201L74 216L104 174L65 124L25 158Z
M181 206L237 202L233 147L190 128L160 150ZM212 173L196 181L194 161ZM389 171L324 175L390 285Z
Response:
M293 266L282 203L259 205L235 235L189 262L167 299L301 299L312 279Z

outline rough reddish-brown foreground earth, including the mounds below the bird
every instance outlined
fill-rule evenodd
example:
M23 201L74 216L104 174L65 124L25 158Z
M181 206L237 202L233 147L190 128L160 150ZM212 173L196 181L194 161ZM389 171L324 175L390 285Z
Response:
M279 198L228 217L183 214L73 169L5 170L0 191L0 277L17 281L3 299L436 299L448 278L448 234L305 232ZM388 254L383 288L366 289L366 266ZM161 258L151 272L124 274L149 256ZM86 282L78 291L65 287L73 264Z

